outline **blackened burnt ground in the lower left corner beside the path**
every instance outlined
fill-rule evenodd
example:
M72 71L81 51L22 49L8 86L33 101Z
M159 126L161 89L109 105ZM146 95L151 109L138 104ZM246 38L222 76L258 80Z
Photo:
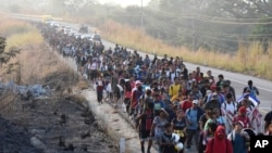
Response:
M12 102L0 116L0 153L115 153L82 102L65 95Z

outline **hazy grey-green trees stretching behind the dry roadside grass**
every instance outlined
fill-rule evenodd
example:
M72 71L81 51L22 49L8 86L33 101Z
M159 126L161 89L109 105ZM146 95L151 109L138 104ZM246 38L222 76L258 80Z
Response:
M10 3L12 9L15 1ZM235 52L239 43L258 41L267 52L272 38L271 0L151 0L144 8L102 5L97 0L49 0L42 11L69 17L114 20L191 50Z

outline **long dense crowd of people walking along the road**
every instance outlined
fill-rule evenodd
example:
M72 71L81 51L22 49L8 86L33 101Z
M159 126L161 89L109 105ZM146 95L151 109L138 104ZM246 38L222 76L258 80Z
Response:
M153 143L159 153L190 152L193 146L199 153L248 153L251 135L272 133L272 113L261 127L252 80L237 98L223 74L200 67L189 72L182 56L151 59L119 44L104 50L46 24L39 28L55 49L72 43L78 72L95 85L98 103L127 113L143 153L150 153Z

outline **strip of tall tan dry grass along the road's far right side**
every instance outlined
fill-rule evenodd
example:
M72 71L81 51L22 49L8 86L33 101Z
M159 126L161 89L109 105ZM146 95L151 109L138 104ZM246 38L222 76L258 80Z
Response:
M99 26L101 35L122 46L140 50L147 53L169 56L182 56L185 61L208 65L232 72L245 73L272 80L272 46L268 53L262 52L261 44L254 42L250 46L240 43L236 54L231 55L217 51L199 49L195 52L188 48L175 48L154 39L140 29L108 21Z

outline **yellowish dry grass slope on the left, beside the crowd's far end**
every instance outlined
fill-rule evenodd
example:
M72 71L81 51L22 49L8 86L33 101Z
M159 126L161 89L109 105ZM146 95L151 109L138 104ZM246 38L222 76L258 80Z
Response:
M9 31L5 49L9 50L11 47L22 49L21 53L10 61L18 63L18 66L15 67L15 73L4 76L5 81L12 79L23 85L50 84L60 90L77 84L77 74L48 49L35 27L10 18L4 21L7 24L0 24L0 29ZM17 29L24 31L18 33Z

